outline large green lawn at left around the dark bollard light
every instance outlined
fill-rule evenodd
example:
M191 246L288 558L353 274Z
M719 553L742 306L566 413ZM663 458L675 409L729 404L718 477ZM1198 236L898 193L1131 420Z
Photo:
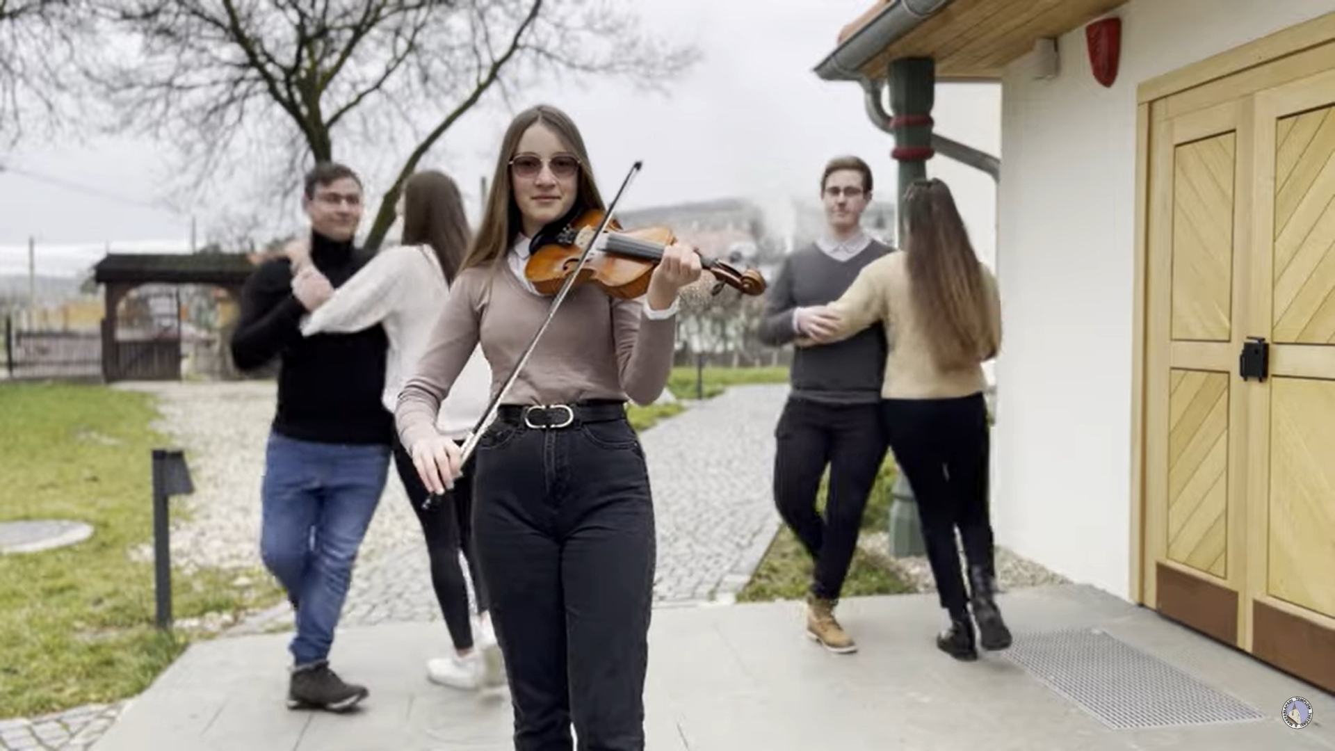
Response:
M151 563L127 551L152 540L146 394L101 386L0 385L0 521L69 518L93 536L56 551L0 556L0 718L112 702L144 690L190 635L154 621ZM172 579L178 619L239 613L272 601L270 577L247 572Z

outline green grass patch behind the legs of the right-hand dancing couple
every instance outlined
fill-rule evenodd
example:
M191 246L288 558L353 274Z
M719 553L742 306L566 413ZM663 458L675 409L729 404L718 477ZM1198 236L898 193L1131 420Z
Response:
M890 502L893 496L890 488L894 485L896 466L889 456L881 465L881 473L876 478L872 494L866 501L866 512L862 514L862 532L884 532L889 524ZM817 508L825 508L825 482L821 482ZM756 568L746 587L737 593L737 600L742 603L757 603L769 600L800 600L806 596L812 583L812 559L806 555L797 537L786 525L774 535L765 557ZM900 595L912 592L912 587L901 581L897 576L877 565L861 549L853 553L853 564L849 567L848 579L844 581L845 597L862 595Z

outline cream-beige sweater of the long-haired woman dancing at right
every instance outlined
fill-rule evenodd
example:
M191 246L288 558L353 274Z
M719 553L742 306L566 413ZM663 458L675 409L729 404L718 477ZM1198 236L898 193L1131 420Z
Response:
M846 339L876 323L885 326L890 347L885 357L881 398L953 398L987 389L981 359L968 367L937 367L926 331L920 325L909 297L912 282L906 261L908 253L892 253L868 263L848 290L830 303L841 317L834 341ZM996 277L987 266L980 263L979 267L983 270L991 302L992 330L1000 349L1001 299Z

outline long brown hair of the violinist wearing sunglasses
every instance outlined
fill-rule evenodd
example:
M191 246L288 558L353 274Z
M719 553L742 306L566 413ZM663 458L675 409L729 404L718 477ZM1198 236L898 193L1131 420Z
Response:
M519 220L519 204L514 200L514 183L510 179L510 159L519 147L519 139L530 127L542 123L551 128L561 143L579 159L578 190L571 214L579 214L591 208L605 210L602 194L593 180L593 167L589 164L589 151L585 148L583 136L569 115L551 107L538 104L515 115L510 127L501 139L501 151L497 154L497 168L491 176L491 190L487 191L487 206L482 212L482 223L473 241L463 267L471 269L485 263L505 258L507 250L514 243L523 224Z

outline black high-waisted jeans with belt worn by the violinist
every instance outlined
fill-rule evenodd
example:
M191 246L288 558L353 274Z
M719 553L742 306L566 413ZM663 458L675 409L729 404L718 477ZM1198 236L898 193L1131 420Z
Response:
M502 408L475 513L517 751L641 751L655 567L643 450L619 402Z

